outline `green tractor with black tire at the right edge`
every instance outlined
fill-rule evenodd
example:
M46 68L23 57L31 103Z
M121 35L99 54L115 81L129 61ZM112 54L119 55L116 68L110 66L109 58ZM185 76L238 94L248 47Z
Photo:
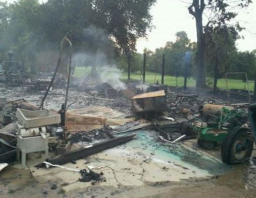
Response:
M249 107L251 128L246 125L248 114L241 108L208 105L203 119L196 119L193 130L198 134L198 145L206 149L221 146L224 163L237 164L249 160L253 151L254 138L251 130L256 131L256 104Z

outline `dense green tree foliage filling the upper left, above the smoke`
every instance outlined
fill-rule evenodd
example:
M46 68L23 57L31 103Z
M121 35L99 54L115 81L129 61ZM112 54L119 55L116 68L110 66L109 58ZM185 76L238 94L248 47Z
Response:
M114 56L135 51L135 42L152 28L150 7L156 0L18 0L0 2L0 54L34 67L36 54L57 51L69 32L74 52ZM39 58L40 59L40 58ZM45 57L47 59L47 57ZM41 60L39 61L41 62ZM97 62L91 65L96 65ZM109 62L108 62L109 64Z

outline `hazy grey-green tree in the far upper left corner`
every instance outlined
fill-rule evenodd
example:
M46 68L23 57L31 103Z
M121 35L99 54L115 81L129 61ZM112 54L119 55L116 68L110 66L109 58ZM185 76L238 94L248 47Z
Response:
M0 23L0 52L6 55L7 51L13 50L14 58L27 66L31 65L39 38L30 29L38 7L37 0L20 0L2 7L8 15L5 23Z

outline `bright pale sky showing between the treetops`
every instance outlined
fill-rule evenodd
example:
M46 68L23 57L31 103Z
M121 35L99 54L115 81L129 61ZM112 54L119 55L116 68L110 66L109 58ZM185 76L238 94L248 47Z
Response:
M6 1L6 0L0 0ZM15 0L7 0L14 2ZM46 0L39 0L45 2ZM147 31L147 39L142 38L137 41L137 51L143 52L144 48L155 51L156 48L164 47L167 41L175 41L175 33L186 31L191 41L196 41L196 21L188 13L188 2L192 0L157 0L151 8L152 24L155 28ZM238 16L235 21L239 21L246 29L240 33L244 39L237 41L239 51L251 51L256 49L256 2L252 3L248 9L237 10ZM234 21L234 22L235 22ZM207 18L204 17L204 23Z

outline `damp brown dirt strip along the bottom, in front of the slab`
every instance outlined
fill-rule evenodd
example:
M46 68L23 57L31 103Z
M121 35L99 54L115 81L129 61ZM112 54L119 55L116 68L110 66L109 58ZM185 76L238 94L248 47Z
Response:
M65 193L61 186L51 189L54 182L40 184L32 176L29 170L14 170L7 168L1 174L5 178L3 185L0 179L1 198L20 197L70 197L70 198L254 198L256 190L245 189L241 171L232 171L221 177L210 179L190 179L180 182L163 182L159 184L146 184L142 187L120 186L119 188L91 186L85 189ZM238 178L237 178L238 177ZM8 189L7 193L4 193ZM101 193L99 195L99 192Z

